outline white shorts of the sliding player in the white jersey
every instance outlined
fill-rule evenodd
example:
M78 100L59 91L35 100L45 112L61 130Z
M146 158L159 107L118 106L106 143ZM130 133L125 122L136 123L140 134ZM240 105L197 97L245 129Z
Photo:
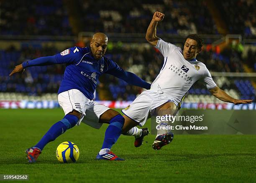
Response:
M149 114L153 112L156 107L161 106L166 102L173 102L178 106L177 102L153 90L143 91L128 107L122 109L123 114L133 121L137 122L141 127L145 125Z

